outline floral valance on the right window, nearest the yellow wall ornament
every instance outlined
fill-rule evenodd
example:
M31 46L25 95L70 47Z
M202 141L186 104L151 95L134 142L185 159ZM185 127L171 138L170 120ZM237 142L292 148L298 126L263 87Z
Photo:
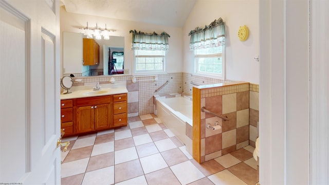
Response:
M190 50L223 46L225 45L224 21L218 18L205 28L196 27L190 31L190 35Z

